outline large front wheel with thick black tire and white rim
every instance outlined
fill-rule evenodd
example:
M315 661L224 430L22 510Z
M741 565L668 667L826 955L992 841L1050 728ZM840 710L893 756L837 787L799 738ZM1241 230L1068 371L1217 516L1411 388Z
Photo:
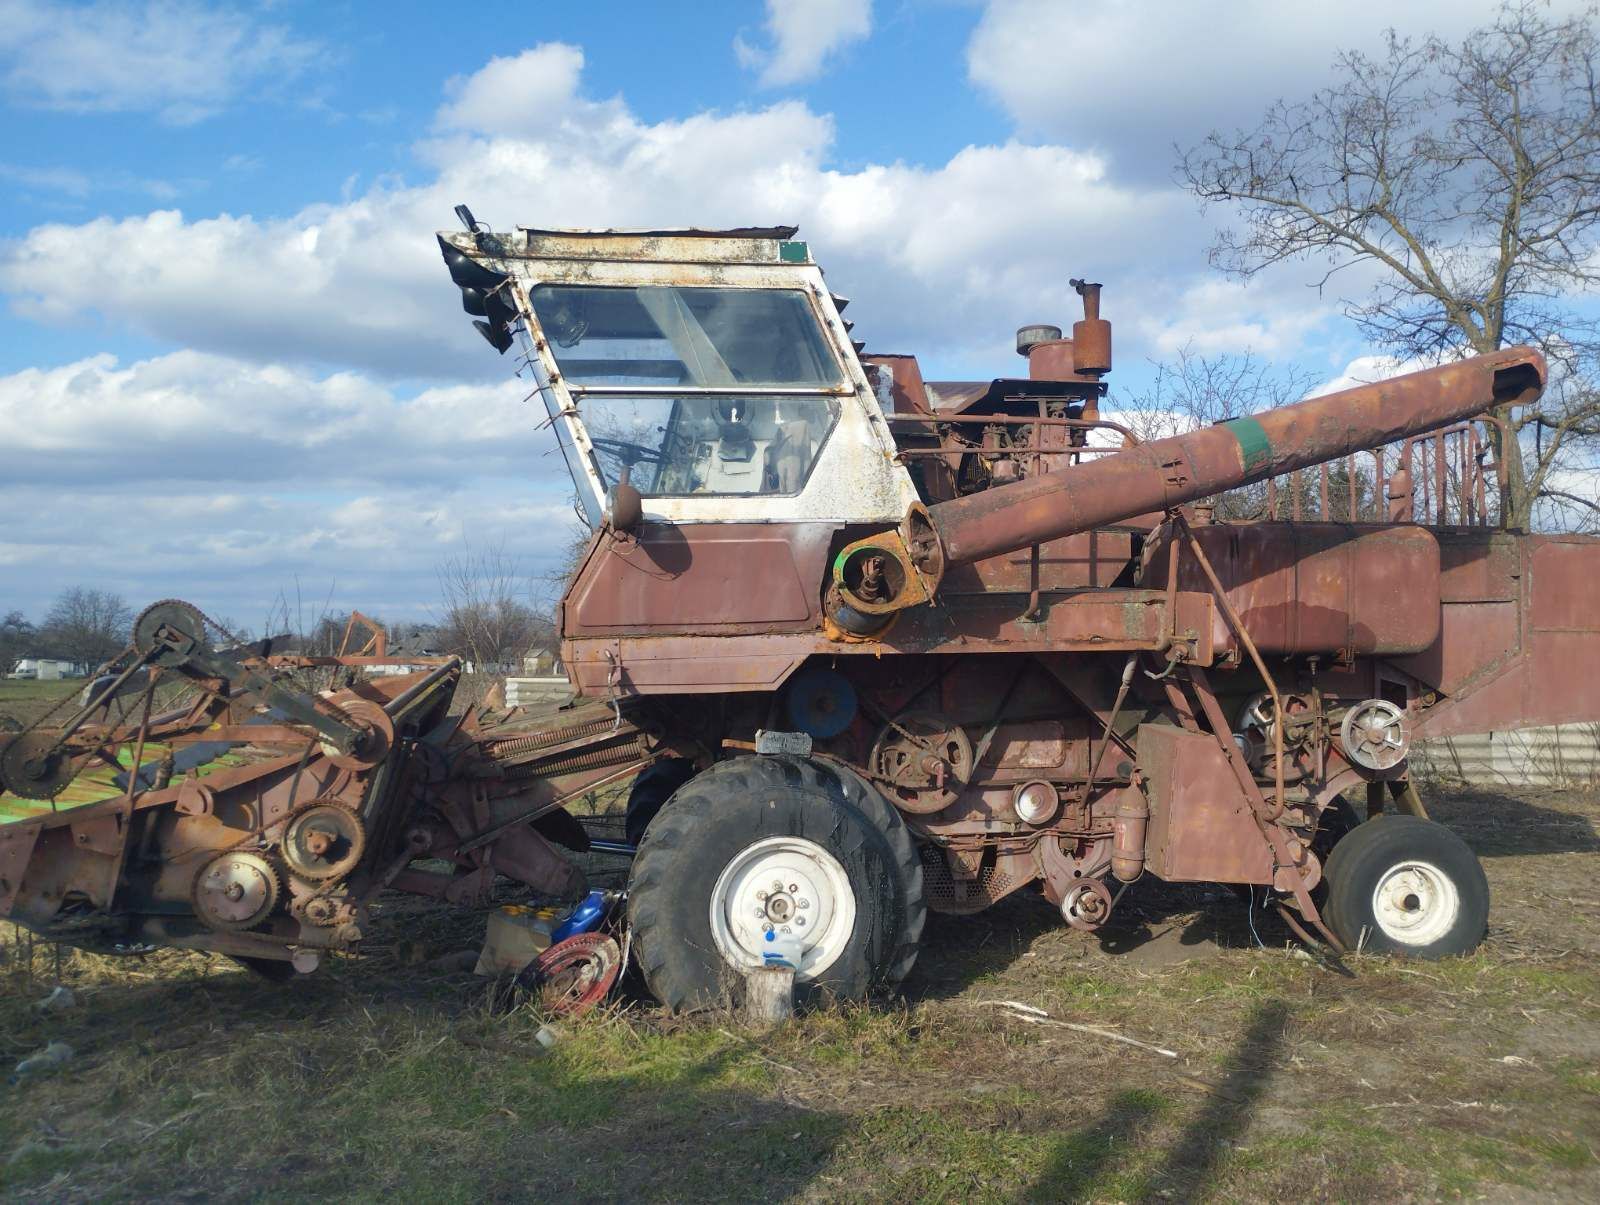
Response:
M672 1011L731 1005L768 927L800 946L798 1003L859 1000L906 978L925 919L899 813L850 770L795 757L738 757L680 787L629 883L638 965Z

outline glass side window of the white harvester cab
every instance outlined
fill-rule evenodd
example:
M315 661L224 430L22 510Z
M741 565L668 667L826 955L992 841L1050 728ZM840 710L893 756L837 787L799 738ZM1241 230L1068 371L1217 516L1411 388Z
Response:
M803 291L541 285L530 299L608 486L624 469L646 496L805 485L843 374Z

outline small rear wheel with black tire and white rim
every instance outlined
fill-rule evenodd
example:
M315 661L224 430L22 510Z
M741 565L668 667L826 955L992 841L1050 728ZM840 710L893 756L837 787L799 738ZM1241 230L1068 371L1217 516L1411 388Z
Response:
M1326 866L1323 915L1350 949L1443 959L1483 941L1490 885L1467 843L1418 816L1352 829Z

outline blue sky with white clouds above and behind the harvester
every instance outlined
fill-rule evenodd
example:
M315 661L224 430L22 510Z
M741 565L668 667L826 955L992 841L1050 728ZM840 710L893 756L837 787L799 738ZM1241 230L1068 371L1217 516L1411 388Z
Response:
M462 202L798 224L856 338L930 378L1022 371L1016 328L1088 277L1112 405L1184 347L1341 379L1373 352L1342 298L1211 270L1226 214L1174 147L1491 10L0 0L0 613L83 584L427 619L450 557L547 570L570 486L438 258Z

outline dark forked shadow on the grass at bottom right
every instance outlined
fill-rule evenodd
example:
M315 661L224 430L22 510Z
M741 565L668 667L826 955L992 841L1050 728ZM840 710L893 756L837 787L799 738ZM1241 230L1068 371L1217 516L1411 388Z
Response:
M1106 1114L1059 1139L1050 1163L1024 1192L1027 1200L1099 1200L1160 1194L1171 1200L1205 1195L1229 1146L1250 1125L1251 1109L1272 1080L1272 1064L1283 1043L1288 1007L1280 1000L1258 1005L1227 1058L1222 1079L1211 1088L1182 1133L1149 1171L1139 1171L1146 1147L1138 1143L1158 1112L1150 1093L1118 1093Z

